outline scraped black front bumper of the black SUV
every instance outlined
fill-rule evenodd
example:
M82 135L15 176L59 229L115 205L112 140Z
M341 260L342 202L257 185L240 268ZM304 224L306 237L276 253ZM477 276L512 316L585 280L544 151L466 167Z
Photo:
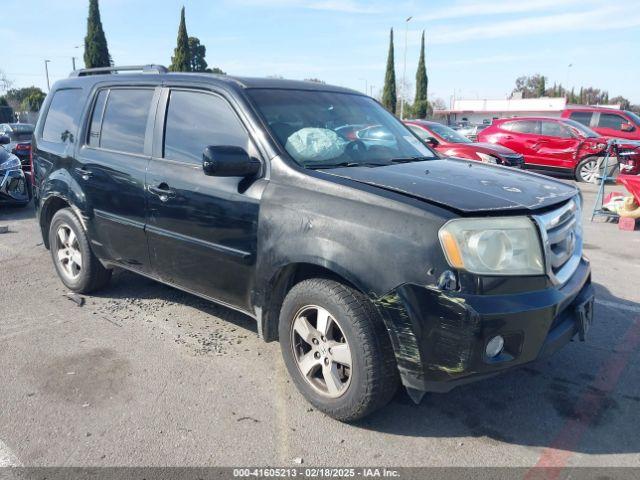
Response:
M405 284L376 305L391 334L404 386L410 393L448 392L550 355L578 333L583 337L585 305L590 319L593 295L583 258L560 288L466 295ZM496 335L504 338L504 348L488 358L487 343Z

